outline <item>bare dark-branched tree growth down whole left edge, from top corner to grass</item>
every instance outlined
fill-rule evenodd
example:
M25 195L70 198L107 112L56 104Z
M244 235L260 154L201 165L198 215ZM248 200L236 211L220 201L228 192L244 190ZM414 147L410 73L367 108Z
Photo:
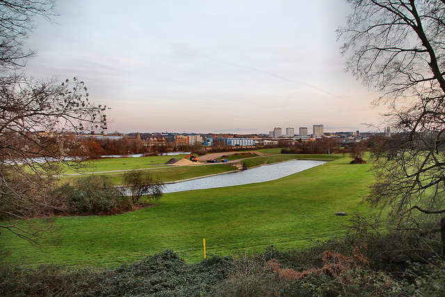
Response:
M52 22L54 1L0 0L0 230L30 241L47 229L29 218L63 207L53 194L61 165L83 166L65 159L73 148L85 150L75 135L106 129L106 106L91 102L83 81L22 72L36 53L24 41L39 15Z

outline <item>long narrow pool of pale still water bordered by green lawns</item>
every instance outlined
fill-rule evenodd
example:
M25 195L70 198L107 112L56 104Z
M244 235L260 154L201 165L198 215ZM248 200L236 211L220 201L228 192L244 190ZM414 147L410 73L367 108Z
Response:
M204 188L220 188L223 186L238 186L241 184L254 184L257 182L268 182L280 179L293 173L300 172L315 166L323 165L325 161L293 160L283 163L264 165L225 175L215 175L213 177L203 177L187 182L176 184L166 184L164 193L180 191L200 190Z

